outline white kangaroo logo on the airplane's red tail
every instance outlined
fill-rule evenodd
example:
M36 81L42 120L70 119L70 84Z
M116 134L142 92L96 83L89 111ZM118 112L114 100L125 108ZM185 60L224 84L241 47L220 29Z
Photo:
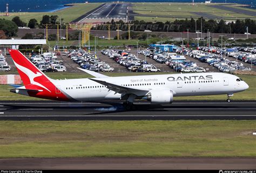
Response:
M25 73L25 74L29 77L29 80L30 80L30 83L31 83L31 84L40 86L40 87L46 89L47 91L49 91L49 92L51 93L51 91L50 91L48 88L46 88L45 86L43 86L42 84L39 84L38 82L36 82L36 81L34 80L36 77L41 77L41 76L43 75L42 73L36 72L36 74L35 74L34 72L32 72L31 70L29 70L29 69L26 68L26 67L23 67L23 66L21 66L21 65L19 65L19 64L17 64L17 63L15 63L15 62L14 62L14 64L15 64L15 66L16 66L19 70L21 70L23 73Z

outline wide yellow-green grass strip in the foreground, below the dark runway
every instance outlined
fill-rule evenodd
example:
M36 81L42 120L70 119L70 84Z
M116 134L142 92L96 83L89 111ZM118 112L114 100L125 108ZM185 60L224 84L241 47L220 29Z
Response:
M255 157L252 121L0 121L0 157Z

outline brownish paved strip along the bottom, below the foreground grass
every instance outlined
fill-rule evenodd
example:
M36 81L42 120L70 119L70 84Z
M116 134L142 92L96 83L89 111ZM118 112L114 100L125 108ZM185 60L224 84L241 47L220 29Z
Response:
M255 170L255 162L254 157L1 158L0 169Z

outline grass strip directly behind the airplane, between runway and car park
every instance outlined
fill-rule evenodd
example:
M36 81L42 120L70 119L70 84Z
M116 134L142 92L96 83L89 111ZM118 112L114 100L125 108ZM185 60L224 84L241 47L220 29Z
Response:
M0 73L4 74L4 73ZM5 73L6 74L6 73ZM14 74L14 73L11 73ZM129 75L152 75L156 73L105 73L111 77L118 77L118 76L129 76ZM170 74L170 73L157 73L157 74ZM46 73L52 79L75 79L75 78L89 78L91 77L89 74L86 73ZM235 93L234 96L231 98L232 100L255 100L256 98L256 77L254 75L238 75L242 78L247 84L250 86L244 92ZM18 95L10 92L9 85L0 85L0 100L43 100L38 98L32 98L29 96ZM174 97L175 100L226 100L226 95L206 95L206 96L183 96L183 97Z

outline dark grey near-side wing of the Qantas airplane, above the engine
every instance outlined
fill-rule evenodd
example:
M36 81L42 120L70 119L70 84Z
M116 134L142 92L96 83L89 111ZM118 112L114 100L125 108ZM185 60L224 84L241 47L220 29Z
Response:
M105 85L109 90L114 91L116 93L120 94L135 94L137 96L144 96L146 93L150 91L150 89L140 89L136 87L126 87L126 86L121 86L117 84L112 84L110 82L104 81L104 80L99 80L99 79L93 79L89 78L92 81L98 82L99 84Z

